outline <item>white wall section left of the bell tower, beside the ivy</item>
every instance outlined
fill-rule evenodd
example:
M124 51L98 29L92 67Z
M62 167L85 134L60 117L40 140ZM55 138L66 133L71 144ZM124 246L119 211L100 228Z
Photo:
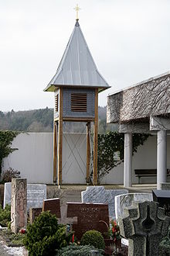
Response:
M19 150L5 158L2 170L20 171L28 183L53 182L53 133L20 133L12 147Z

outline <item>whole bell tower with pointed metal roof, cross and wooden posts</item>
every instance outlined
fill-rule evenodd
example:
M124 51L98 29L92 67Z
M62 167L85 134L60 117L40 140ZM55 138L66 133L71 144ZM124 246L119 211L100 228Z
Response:
M110 86L97 70L76 16L56 74L44 89L53 92L55 99L53 182L58 185L62 184L63 122L66 121L87 123L87 180L90 178L90 123L93 123L93 185L97 185L98 93L107 88Z

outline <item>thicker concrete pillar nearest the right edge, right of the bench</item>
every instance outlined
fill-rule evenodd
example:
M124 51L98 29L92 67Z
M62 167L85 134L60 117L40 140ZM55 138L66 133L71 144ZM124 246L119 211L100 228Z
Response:
M157 133L157 189L166 182L167 176L167 132L158 130Z

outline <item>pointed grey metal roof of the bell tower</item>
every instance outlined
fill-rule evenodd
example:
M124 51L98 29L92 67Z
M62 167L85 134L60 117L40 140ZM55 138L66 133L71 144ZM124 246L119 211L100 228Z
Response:
M78 19L56 74L44 91L54 92L58 87L99 88L102 91L110 88L97 70Z

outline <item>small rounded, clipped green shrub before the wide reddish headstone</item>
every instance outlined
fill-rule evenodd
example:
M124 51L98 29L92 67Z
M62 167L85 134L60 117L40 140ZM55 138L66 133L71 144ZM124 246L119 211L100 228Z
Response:
M83 237L81 238L81 244L93 245L93 247L103 250L105 248L104 237L97 230L89 230L86 233L84 233Z

